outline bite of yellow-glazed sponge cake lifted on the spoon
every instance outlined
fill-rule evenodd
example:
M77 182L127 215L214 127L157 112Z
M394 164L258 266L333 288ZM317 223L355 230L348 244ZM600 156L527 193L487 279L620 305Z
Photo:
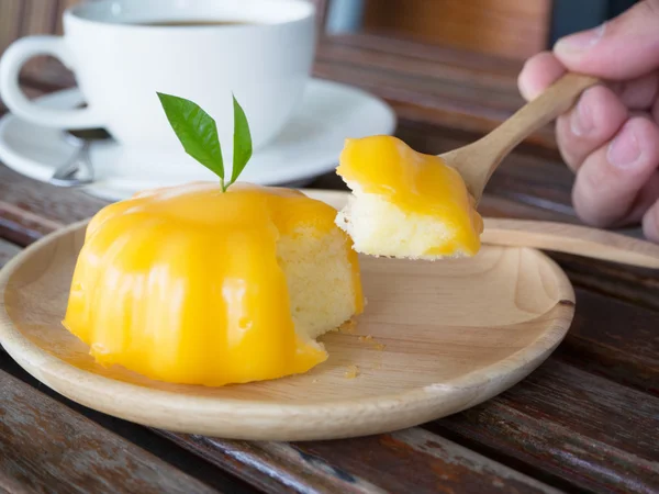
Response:
M347 139L337 173L353 190L336 224L359 252L413 259L468 257L483 222L460 173L391 136Z

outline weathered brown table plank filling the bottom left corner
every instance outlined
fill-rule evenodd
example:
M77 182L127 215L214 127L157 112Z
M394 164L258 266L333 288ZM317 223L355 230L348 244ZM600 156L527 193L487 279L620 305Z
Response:
M3 371L0 390L0 490L217 492Z

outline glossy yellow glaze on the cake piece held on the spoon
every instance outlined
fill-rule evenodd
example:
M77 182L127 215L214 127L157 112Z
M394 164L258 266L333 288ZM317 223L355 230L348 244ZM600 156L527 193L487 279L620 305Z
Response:
M382 195L405 213L435 217L454 232L450 242L426 254L479 251L482 217L460 173L439 157L387 135L346 139L337 173L364 192Z

